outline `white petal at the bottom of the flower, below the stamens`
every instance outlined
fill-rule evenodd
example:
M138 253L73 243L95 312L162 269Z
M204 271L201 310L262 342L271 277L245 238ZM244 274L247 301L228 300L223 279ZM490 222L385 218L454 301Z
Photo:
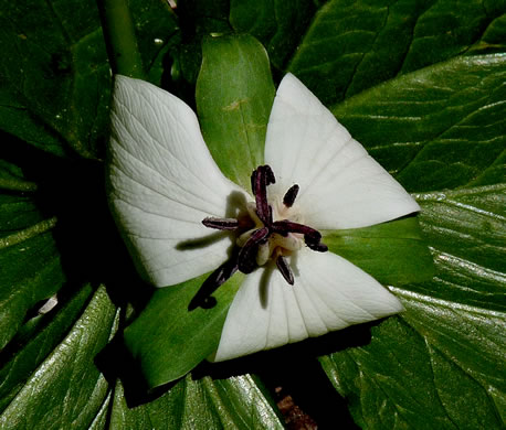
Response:
M249 275L235 295L214 361L270 350L403 310L372 277L333 252L297 254L295 283L274 269Z

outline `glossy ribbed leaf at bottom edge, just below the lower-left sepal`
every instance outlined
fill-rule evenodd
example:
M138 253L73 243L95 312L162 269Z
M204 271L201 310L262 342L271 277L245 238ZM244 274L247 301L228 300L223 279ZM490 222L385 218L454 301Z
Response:
M143 430L283 429L273 406L255 378L178 381L156 400L128 408L123 387L116 386L110 428Z

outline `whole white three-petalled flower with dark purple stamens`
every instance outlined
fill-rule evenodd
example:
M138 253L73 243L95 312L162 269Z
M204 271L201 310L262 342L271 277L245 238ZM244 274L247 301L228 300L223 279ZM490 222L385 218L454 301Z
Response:
M264 161L252 172L252 190L241 189L221 173L183 101L116 76L108 196L137 269L157 287L211 273L190 309L204 307L208 292L236 270L246 273L215 361L403 309L372 277L328 251L325 232L420 208L292 74L274 99Z

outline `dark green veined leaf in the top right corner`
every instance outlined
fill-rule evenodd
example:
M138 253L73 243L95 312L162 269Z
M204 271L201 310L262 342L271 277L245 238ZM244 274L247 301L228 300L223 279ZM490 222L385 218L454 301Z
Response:
M506 9L504 1L491 3L333 0L315 14L288 69L335 104L479 44ZM491 39L504 47L504 26L495 25Z

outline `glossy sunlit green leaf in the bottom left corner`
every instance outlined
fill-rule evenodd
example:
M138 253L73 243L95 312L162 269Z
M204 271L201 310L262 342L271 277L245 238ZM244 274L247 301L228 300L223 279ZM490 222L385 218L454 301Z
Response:
M116 308L101 288L67 336L30 375L2 412L0 426L89 427L108 391L108 384L93 365L93 358L110 340L116 325Z

